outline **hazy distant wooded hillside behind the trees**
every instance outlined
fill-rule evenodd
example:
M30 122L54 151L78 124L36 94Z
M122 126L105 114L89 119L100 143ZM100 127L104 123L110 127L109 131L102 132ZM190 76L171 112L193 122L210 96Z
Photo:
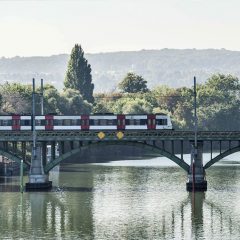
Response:
M225 49L214 50L142 50L136 52L112 52L86 54L92 66L95 92L116 89L118 82L128 71L142 75L148 86L191 86L193 76L204 82L213 73L230 73L240 77L240 52ZM69 55L50 57L14 57L0 59L0 82L30 83L43 78L57 88L63 87L63 79Z

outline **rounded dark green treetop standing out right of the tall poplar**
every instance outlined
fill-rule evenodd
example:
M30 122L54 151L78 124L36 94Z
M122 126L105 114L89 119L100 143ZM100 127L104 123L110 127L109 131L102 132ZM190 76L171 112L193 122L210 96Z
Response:
M147 81L135 73L127 73L126 77L118 84L118 88L125 93L148 92Z

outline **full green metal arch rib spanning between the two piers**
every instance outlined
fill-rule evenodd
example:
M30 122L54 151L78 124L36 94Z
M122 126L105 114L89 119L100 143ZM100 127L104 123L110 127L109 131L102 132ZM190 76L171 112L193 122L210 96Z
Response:
M73 149L70 150L69 152L62 154L61 156L59 156L58 158L54 159L53 161L49 162L45 168L44 171L45 173L48 173L52 168L54 168L55 166L57 166L60 162L64 161L65 159L69 158L70 156L73 156L77 153L80 153L80 151L82 149L86 149L86 148L93 148L93 147L97 147L97 146L106 146L106 145L128 145L128 146L135 146L135 147L141 147L144 148L146 150L155 152L159 155L162 155L164 157L167 157L168 159L172 160L173 162L175 162L178 166L180 166L182 169L184 169L186 172L189 171L189 165L183 161L181 158L175 156L174 154L171 154L170 152L167 152L157 146L153 146L150 144L146 144L146 143L142 143L142 142L131 142L131 141L112 141L112 142L96 142L96 143L90 143L88 145L84 145L81 148L77 148L77 149Z

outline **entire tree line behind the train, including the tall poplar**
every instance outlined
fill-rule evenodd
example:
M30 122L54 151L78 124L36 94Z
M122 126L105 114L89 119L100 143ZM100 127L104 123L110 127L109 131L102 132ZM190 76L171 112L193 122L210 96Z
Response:
M157 86L149 90L142 76L128 73L119 83L118 92L93 95L91 66L79 45L72 50L64 86L62 92L54 86L44 86L45 113L166 113L171 116L175 129L193 129L192 88ZM197 85L199 129L240 130L239 90L239 79L232 75L215 74L205 84ZM30 85L1 85L1 113L30 113L31 96Z

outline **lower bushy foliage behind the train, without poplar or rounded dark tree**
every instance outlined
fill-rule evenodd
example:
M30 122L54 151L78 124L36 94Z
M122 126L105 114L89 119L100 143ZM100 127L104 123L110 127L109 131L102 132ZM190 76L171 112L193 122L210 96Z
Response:
M214 74L205 84L197 85L197 115L199 130L240 131L240 82L232 75ZM39 89L37 89L39 92ZM0 88L2 114L30 113L32 88L30 85L5 83ZM193 89L158 86L152 91L137 93L95 94L94 104L89 104L76 89L63 92L52 85L44 86L45 113L58 114L142 114L166 113L171 116L175 129L193 130ZM36 97L36 112L40 101Z

